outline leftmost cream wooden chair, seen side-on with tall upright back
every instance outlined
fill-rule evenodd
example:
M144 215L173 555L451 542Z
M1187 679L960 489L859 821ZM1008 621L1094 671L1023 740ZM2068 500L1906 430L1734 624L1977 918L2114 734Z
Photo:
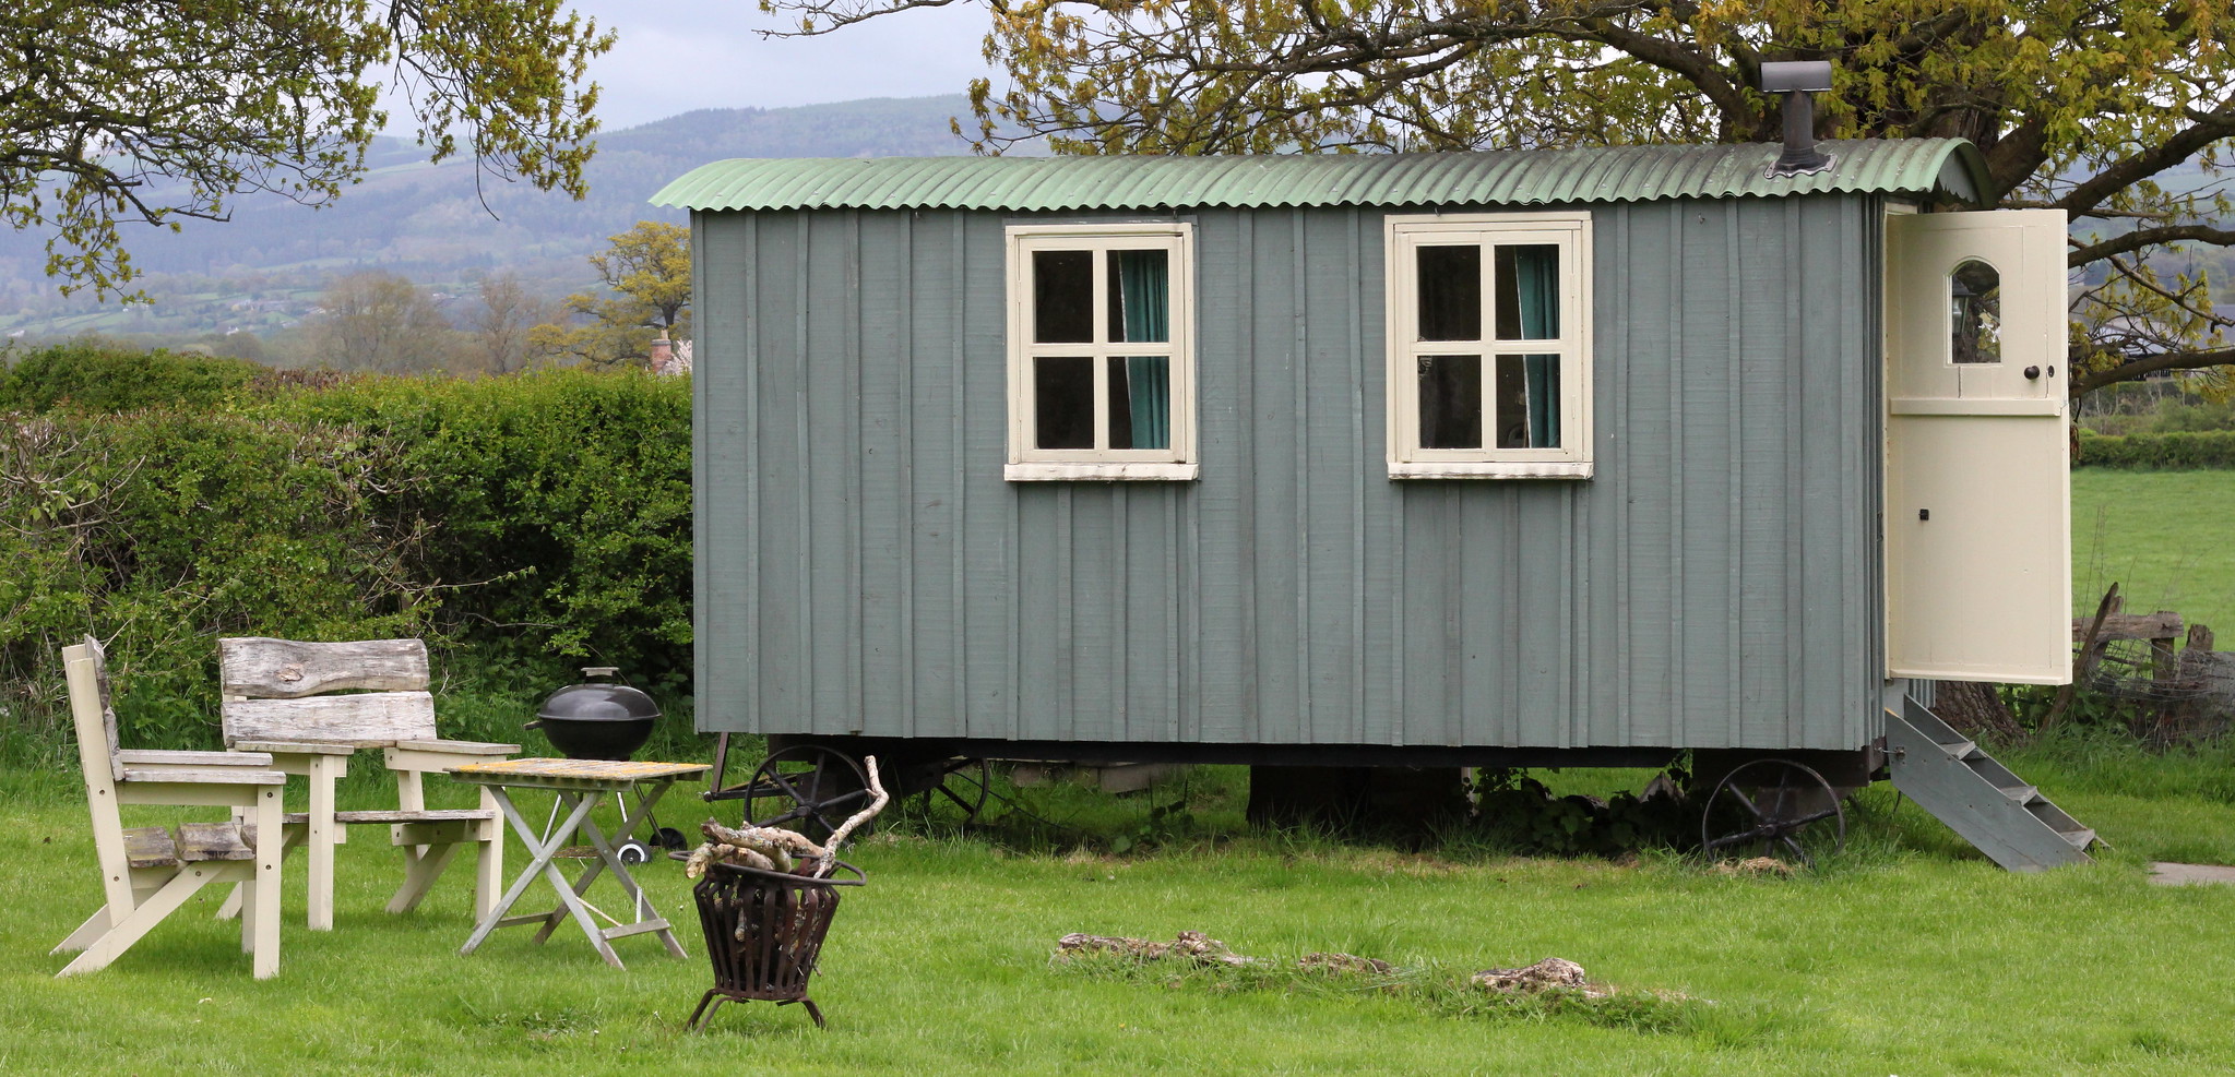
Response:
M101 641L63 648L78 764L94 816L94 854L107 905L54 954L80 952L58 976L107 968L201 887L239 883L241 950L257 979L279 972L279 856L286 775L270 755L235 751L121 751ZM125 827L123 804L228 807L230 822Z

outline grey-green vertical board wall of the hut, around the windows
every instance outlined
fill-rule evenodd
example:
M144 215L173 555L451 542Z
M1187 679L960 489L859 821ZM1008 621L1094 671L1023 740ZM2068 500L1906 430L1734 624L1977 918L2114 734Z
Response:
M1383 471L1381 210L1202 210L1198 483L1006 483L999 215L697 215L700 724L1853 749L1875 206L1591 206L1591 480Z

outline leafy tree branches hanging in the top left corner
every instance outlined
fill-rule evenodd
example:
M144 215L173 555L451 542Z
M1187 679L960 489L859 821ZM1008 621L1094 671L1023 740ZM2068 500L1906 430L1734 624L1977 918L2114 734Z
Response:
M65 290L132 279L121 223L224 221L364 172L382 83L443 161L581 197L588 60L561 0L11 0L0 4L0 221L47 232Z

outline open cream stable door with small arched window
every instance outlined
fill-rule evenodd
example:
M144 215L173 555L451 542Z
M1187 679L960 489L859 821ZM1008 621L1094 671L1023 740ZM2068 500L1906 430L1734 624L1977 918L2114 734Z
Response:
M1886 673L2072 679L2063 210L1886 217Z

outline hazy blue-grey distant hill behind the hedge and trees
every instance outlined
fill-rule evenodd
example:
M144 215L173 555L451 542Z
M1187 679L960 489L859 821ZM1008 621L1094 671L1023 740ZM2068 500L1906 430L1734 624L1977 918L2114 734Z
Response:
M268 331L293 322L329 275L355 268L436 288L514 268L559 295L588 286L583 257L606 237L641 219L684 223L684 212L646 199L691 168L726 156L963 154L948 121L968 112L961 94L686 112L599 134L583 201L489 177L476 190L474 161L429 165L418 145L382 136L367 154L373 170L324 210L253 197L228 223L127 228L152 308L60 299L42 273L45 239L0 230L0 333Z

